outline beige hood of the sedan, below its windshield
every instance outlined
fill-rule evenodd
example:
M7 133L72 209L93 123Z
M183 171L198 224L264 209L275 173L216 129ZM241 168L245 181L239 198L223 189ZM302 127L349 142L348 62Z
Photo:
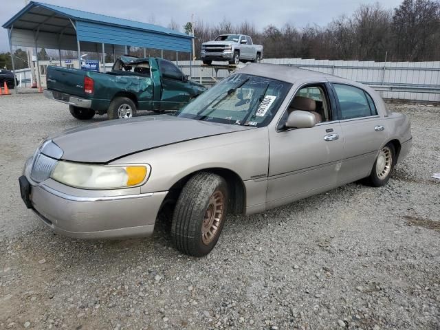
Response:
M172 115L151 115L89 124L48 139L63 150L61 159L105 164L159 146L246 129L254 127L203 122Z

